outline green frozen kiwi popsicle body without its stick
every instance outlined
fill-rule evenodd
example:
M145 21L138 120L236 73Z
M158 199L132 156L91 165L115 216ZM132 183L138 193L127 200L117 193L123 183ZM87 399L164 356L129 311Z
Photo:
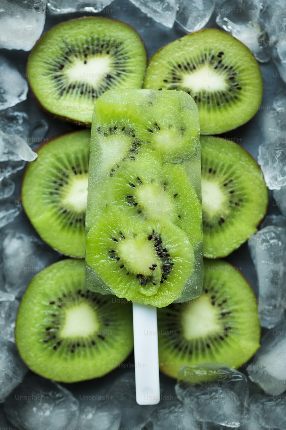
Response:
M90 290L156 307L201 294L199 114L186 92L97 99L86 232Z

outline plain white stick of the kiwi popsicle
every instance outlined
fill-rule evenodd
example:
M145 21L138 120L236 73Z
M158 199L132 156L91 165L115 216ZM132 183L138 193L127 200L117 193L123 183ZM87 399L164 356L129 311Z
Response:
M160 402L157 307L133 303L136 402Z

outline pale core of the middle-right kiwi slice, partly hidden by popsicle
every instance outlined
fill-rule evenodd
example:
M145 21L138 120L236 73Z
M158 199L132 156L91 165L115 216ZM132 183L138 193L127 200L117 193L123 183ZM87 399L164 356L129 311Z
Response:
M221 212L225 212L227 198L215 181L208 181L202 178L202 211L211 217Z

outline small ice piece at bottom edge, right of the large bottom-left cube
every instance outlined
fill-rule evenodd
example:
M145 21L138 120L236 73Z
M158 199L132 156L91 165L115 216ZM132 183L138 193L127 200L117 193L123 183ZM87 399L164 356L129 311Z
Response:
M81 405L77 430L118 430L121 412L116 405L103 402L96 406Z

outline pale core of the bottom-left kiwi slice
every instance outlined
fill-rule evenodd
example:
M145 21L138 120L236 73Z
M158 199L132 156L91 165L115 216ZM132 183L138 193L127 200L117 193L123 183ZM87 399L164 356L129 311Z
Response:
M88 337L99 330L96 313L88 303L75 304L65 310L60 338Z

